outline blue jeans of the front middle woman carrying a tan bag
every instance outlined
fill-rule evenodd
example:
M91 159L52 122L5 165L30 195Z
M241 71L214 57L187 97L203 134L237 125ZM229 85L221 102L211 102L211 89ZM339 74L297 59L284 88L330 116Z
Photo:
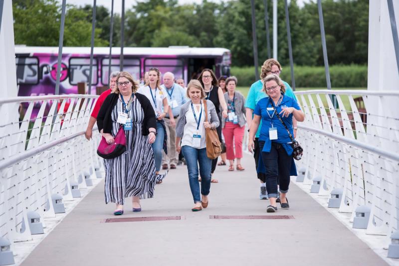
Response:
M198 149L184 145L182 152L187 162L190 189L191 194L193 194L194 203L201 202L201 194L204 196L209 194L212 160L206 156L206 148ZM198 164L200 164L201 193L198 181Z

